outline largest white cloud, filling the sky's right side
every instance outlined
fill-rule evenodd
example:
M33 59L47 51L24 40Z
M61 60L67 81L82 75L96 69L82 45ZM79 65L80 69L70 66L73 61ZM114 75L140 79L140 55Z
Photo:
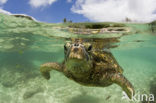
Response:
M99 22L120 22L126 17L139 22L156 19L155 0L77 0L71 10Z

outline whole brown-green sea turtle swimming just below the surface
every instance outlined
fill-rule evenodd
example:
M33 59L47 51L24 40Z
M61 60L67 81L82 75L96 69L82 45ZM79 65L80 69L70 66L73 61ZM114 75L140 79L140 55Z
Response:
M51 70L57 70L85 86L106 87L116 83L129 98L133 96L133 86L123 76L123 69L111 52L94 51L89 42L74 42L64 45L64 54L62 64L49 62L41 65L40 72L46 79L50 79Z

